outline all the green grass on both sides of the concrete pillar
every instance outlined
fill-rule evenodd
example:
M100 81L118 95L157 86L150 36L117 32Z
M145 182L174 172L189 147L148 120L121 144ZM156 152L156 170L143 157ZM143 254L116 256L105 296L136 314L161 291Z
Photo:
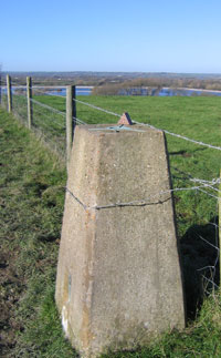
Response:
M62 98L38 96L36 100L65 110ZM90 96L81 100L116 113L127 111L135 120L220 145L221 101L218 98ZM77 117L87 123L116 123L117 120L80 104ZM54 305L65 168L33 134L3 111L0 111L0 299L4 310L0 321L4 344L0 349L8 357L75 357L63 337ZM204 180L219 176L219 151L170 136L167 140L175 187L194 185L187 180L187 174ZM202 236L217 245L212 225L218 223L217 201L199 192L182 192L175 200L188 317L193 319L203 298L197 269L213 265L217 258L217 250L200 239ZM219 283L219 275L214 279ZM204 300L197 320L183 333L167 333L147 348L109 352L107 357L220 357L220 305L219 294L213 293Z

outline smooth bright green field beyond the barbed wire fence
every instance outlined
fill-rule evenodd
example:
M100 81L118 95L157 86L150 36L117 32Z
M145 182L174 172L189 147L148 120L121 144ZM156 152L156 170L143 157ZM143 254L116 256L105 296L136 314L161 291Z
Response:
M78 98L77 98L78 99ZM219 98L141 98L141 96L87 96L81 101L114 113L128 112L135 121L149 123L158 129L220 146L221 100ZM65 99L39 96L38 101L65 111ZM117 117L76 103L77 117L88 124L116 123ZM219 177L221 151L200 146L167 135L173 187L186 187L187 176L211 181ZM182 172L182 173L180 173ZM176 194L177 195L177 194ZM182 193L177 203L179 235L193 224L207 224L215 215L217 203L207 195ZM200 202L200 205L199 205Z

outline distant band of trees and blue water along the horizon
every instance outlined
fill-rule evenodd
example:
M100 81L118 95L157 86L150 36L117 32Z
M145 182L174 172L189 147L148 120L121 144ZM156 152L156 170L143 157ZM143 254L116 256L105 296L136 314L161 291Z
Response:
M6 76L6 72L0 74ZM129 73L129 72L11 72L13 84L25 85L27 75L32 76L33 85L92 85L94 94L118 94L119 91L144 88L152 89L155 93L161 88L220 90L221 76L209 74L176 74L176 73ZM150 91L150 90L149 90ZM135 93L136 94L136 93Z

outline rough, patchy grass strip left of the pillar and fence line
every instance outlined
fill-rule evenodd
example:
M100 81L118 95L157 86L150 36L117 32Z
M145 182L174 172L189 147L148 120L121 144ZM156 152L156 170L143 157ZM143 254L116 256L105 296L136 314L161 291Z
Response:
M2 356L67 357L53 301L65 168L12 116L0 123Z

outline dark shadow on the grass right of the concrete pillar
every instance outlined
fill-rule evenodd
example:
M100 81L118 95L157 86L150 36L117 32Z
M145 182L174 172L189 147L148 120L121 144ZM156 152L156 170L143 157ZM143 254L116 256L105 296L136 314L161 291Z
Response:
M203 298L220 283L219 218L206 225L192 225L180 239L187 319L198 315Z

